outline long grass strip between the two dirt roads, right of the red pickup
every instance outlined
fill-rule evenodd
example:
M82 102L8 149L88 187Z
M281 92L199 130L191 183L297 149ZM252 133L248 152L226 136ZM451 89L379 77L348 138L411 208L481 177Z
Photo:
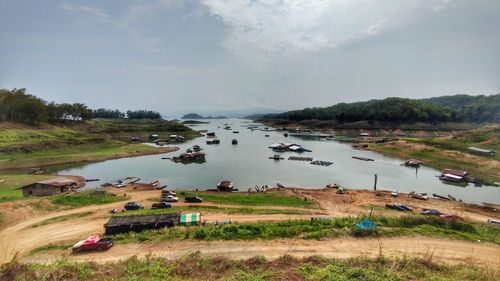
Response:
M344 217L325 220L289 220L249 224L206 225L174 227L115 235L118 243L170 240L255 240L255 239L323 239L339 236L438 236L467 241L481 240L500 244L499 229L486 224L461 221L443 221L437 217L403 216L374 219L380 227L376 231L358 231L353 225L358 218Z

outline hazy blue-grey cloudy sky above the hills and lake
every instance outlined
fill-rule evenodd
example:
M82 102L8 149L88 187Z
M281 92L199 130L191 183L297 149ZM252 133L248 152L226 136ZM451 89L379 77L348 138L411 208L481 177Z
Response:
M0 88L163 114L500 92L498 0L0 0Z

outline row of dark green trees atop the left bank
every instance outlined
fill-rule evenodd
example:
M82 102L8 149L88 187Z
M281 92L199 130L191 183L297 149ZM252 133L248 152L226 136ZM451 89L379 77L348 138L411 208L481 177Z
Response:
M26 89L0 89L0 121L26 124L86 121L92 118L160 119L160 113L151 110L90 109L83 103L46 102Z

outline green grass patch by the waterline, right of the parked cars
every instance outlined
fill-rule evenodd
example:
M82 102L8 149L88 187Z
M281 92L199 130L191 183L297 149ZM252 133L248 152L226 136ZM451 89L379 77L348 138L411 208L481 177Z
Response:
M199 196L205 202L242 206L287 206L315 208L314 201L304 201L303 198L284 194L283 192L252 192L252 193L209 193L187 192L179 195L179 200L186 196Z

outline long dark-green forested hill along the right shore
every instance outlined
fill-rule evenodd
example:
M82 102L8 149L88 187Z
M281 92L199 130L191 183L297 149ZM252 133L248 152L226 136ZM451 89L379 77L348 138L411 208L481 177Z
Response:
M440 104L440 98L429 101L391 97L383 100L339 103L329 107L306 108L281 114L269 114L265 118L289 121L333 120L337 122L500 122L499 96L484 97L487 103L479 102L479 99L476 102L469 101L467 105L461 107L442 105ZM450 103L460 104L458 101L455 102L453 97L441 98L443 98L443 103L444 98L450 98Z

